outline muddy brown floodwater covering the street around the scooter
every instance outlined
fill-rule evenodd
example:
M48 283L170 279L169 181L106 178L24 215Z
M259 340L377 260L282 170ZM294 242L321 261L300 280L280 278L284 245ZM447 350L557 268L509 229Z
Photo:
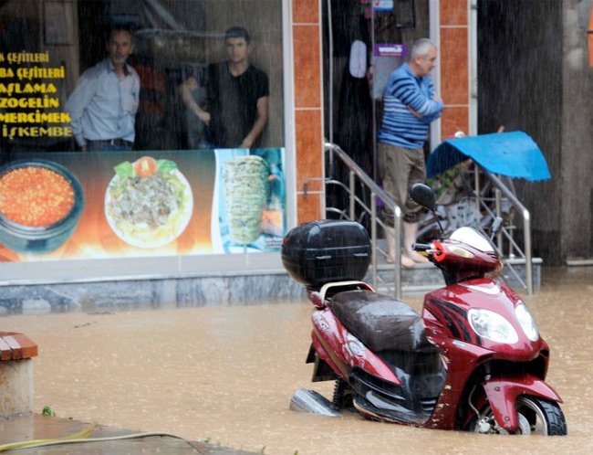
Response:
M39 345L36 412L268 454L589 453L593 443L593 268L546 270L525 302L550 344L547 380L564 398L567 438L474 435L324 418L288 409L309 387L310 304L18 315L2 330ZM421 299L406 299L417 310Z

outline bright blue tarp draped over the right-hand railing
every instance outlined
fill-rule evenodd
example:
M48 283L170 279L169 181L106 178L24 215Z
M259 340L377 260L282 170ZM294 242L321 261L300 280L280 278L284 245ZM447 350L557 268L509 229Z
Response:
M439 175L455 164L472 158L493 174L547 180L546 158L525 132L497 132L443 141L426 164L428 177Z

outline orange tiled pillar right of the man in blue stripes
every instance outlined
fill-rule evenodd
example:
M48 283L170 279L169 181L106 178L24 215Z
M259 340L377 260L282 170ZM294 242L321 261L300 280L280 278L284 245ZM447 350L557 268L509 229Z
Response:
M459 130L469 133L469 0L440 3L441 116L442 139Z

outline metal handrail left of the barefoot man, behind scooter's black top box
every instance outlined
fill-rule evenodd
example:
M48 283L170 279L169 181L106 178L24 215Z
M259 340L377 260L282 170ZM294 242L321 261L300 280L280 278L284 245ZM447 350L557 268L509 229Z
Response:
M349 219L355 219L356 217L356 206L357 204L363 208L363 210L370 214L370 243L372 247L371 252L371 265L372 265L372 280L373 287L377 288L378 272L377 272L377 228L381 226L385 228L385 225L377 217L377 198L379 198L383 206L388 210L393 211L393 220L395 228L395 245L401 245L401 208L398 206L390 196L387 196L385 192L367 175L359 166L356 164L349 155L344 152L339 145L335 143L325 143L325 150L328 153L337 155L342 163L346 164L349 169L349 186L347 191L349 192ZM364 201L356 196L356 180L359 181L369 188L370 190L370 207L367 206ZM331 179L326 179L326 184L331 182ZM342 185L341 182L335 181L338 185ZM394 293L396 299L401 299L401 249L395 249L395 258L393 259L394 269Z

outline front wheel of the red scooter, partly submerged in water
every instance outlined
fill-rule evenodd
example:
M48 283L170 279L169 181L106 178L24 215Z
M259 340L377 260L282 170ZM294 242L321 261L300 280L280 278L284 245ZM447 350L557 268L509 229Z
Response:
M567 420L564 418L562 409L554 401L525 395L517 397L516 410L518 426L513 434L567 435ZM509 431L498 426L490 405L483 407L480 417L474 417L467 429L476 433L510 434Z

